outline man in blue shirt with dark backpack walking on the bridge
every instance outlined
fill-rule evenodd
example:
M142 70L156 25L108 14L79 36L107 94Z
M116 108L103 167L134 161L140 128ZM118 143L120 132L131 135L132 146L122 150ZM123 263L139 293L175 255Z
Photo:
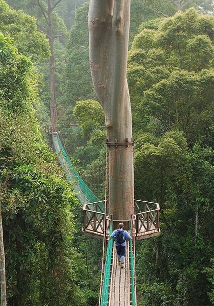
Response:
M125 243L126 240L131 239L131 237L128 234L128 232L123 230L123 223L119 223L118 230L114 230L113 233L110 235L110 237L107 238L107 241L111 240L113 237L116 237L115 246L116 246L116 257L118 265L120 265L121 268L124 268Z

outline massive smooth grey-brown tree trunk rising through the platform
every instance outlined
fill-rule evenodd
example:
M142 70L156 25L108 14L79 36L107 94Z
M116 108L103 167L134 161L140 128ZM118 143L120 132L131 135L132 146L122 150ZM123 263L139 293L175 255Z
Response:
M126 80L129 18L130 0L90 0L90 69L105 114L109 212L114 220L130 220L133 203L131 109Z

